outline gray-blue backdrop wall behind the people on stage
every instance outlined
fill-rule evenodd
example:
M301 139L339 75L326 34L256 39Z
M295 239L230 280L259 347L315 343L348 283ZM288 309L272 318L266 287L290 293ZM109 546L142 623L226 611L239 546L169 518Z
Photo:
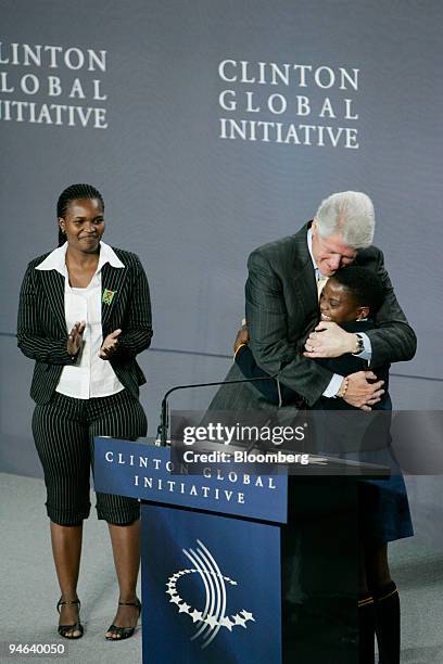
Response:
M105 240L137 252L150 279L154 352L141 363L149 376L142 399L151 434L165 388L225 374L251 250L294 232L322 197L344 189L374 199L376 243L419 336L417 357L394 367L404 376L392 381L394 401L441 407L440 2L423 11L422 3L403 0L3 0L1 13L3 60L12 42L107 51L104 73L11 63L0 64L0 72L8 72L11 85L26 73L42 85L56 74L64 88L77 75L85 88L100 78L107 99L91 105L106 108L109 127L0 124L0 357L7 376L0 468L39 472L30 451L31 362L13 339L17 295L26 263L54 246L55 201L76 181L102 191ZM225 59L358 68L358 90L349 93L358 120L321 122L357 127L359 149L221 140L219 117L229 115L218 103L224 89L239 95L253 90L262 102L273 92L284 94L287 113L260 115L282 123L303 122L292 112L296 94L308 95L313 107L328 94L334 104L347 95L337 86L224 82L218 64ZM15 98L48 103L43 91ZM69 103L65 93L56 101ZM230 115L254 119L241 110ZM187 395L177 403L201 407L207 398Z

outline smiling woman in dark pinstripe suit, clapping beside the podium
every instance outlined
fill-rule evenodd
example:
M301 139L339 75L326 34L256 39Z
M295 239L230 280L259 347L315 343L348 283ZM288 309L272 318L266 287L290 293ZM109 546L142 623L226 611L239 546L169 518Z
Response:
M62 592L59 634L71 639L84 633L77 580L93 437L147 435L138 400L145 379L136 356L152 336L148 280L135 254L101 241L103 212L101 194L89 184L62 192L59 247L30 261L18 307L18 346L36 362L33 433ZM97 511L109 524L119 586L106 639L121 640L134 634L140 613L139 503L97 494Z

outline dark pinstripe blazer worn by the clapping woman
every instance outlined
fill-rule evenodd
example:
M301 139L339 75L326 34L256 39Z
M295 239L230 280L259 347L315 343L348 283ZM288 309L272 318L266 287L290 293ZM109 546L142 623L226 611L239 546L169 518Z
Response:
M114 247L113 247L114 248ZM145 378L136 356L148 348L152 337L148 279L136 254L114 248L125 268L109 263L102 267L102 290L114 291L111 304L102 301L103 339L122 329L118 346L110 358L119 382L138 397ZM30 396L37 404L52 397L65 365L73 360L66 350L64 277L56 270L36 270L49 253L31 260L23 279L17 321L17 344L36 360Z

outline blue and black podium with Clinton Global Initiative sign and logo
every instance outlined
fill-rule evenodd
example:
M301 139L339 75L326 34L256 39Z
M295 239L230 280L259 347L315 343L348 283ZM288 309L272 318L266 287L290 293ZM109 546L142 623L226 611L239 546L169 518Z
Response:
M170 448L109 437L94 457L96 490L142 503L143 664L358 662L357 475L175 474Z

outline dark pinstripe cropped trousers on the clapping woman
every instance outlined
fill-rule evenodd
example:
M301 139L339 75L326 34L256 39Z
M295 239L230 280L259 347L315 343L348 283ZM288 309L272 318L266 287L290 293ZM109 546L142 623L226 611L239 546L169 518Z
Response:
M33 434L43 467L51 521L77 525L89 516L94 436L134 440L147 431L144 411L126 390L91 399L54 392L49 403L37 404ZM140 507L135 498L98 493L97 514L107 523L124 525L139 519Z

